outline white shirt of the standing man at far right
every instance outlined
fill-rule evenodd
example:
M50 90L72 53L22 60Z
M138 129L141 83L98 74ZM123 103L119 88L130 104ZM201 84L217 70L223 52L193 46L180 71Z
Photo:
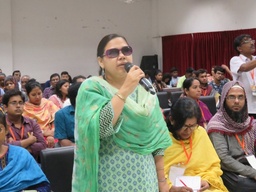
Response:
M256 57L251 56L252 60ZM230 60L230 71L234 81L240 81L244 84L244 88L247 94L248 113L256 114L256 97L252 96L251 85L253 85L253 79L250 72L239 72L239 68L242 64L250 62L251 60L244 55L240 54ZM252 72L252 71L251 71ZM256 84L256 68L254 69L254 81Z

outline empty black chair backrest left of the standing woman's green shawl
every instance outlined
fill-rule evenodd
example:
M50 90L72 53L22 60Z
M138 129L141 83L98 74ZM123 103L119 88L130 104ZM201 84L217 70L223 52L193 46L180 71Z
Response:
M41 169L54 192L71 192L75 146L40 151Z

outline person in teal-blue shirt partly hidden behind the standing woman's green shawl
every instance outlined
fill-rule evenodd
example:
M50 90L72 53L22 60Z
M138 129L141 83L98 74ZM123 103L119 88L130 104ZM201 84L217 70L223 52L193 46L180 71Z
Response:
M59 139L62 147L75 145L75 109L78 89L82 82L75 82L68 89L68 98L71 105L66 106L55 113L54 138Z

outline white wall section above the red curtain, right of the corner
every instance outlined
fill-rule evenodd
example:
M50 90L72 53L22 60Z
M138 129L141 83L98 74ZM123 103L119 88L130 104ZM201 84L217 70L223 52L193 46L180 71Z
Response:
M152 22L152 28L156 26L159 31L157 34L153 33L153 36L256 28L255 0L158 0L157 2L158 22ZM162 58L162 39L152 42L152 47L161 49L159 57Z

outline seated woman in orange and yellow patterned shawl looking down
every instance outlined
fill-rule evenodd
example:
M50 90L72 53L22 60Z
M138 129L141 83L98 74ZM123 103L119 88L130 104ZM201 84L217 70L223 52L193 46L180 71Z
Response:
M42 130L46 144L49 148L53 148L54 143L58 142L58 139L54 139L54 118L59 108L51 101L43 98L41 85L35 79L29 80L25 89L29 101L25 103L22 115L36 120Z

